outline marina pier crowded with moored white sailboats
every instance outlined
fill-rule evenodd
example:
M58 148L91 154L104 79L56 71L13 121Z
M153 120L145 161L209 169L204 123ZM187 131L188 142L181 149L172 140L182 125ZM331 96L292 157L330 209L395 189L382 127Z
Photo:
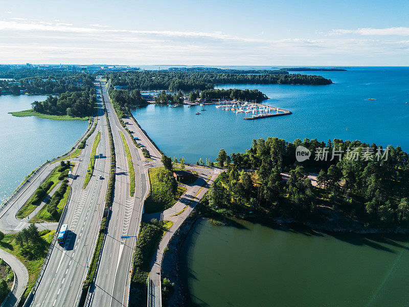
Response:
M244 117L246 120L255 120L267 117L276 117L283 115L290 115L292 112L270 105L265 105L256 102L247 101L219 101L216 102L216 108L222 108L225 111L232 111L233 113L249 113L251 116Z

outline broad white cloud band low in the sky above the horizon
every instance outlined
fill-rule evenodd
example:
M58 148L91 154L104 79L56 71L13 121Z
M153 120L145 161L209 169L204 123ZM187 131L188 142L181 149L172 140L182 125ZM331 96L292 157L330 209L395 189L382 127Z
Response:
M402 28L399 29L399 33L404 33ZM375 34L360 36L374 33L374 30L385 29L338 29L331 35L315 33L314 38L262 39L257 33L244 37L220 31L126 30L99 24L78 27L62 20L10 18L0 20L0 59L7 63L363 65L362 59L377 55L379 59L405 59L400 64L409 64L409 41L391 37L379 39ZM267 35L266 32L262 36ZM352 61L337 60L343 58Z

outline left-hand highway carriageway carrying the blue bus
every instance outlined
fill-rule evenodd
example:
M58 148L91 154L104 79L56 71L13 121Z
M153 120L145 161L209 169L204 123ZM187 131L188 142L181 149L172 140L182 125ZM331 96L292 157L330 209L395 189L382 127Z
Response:
M97 94L100 91L97 89ZM98 123L94 134L87 140L76 169L77 178L72 183L64 224L70 230L63 245L56 244L37 288L33 306L75 306L87 264L94 253L96 235L99 231L109 170L109 144L101 95L97 95ZM97 153L105 158L96 159L94 175L86 189L82 189L90 151L98 131L101 133ZM104 179L100 180L102 176Z

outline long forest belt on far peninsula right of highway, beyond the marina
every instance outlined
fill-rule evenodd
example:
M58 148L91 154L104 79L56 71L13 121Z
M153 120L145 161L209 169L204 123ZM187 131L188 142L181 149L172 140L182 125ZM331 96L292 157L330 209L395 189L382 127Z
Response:
M112 86L127 86L129 90L212 90L216 84L330 84L330 79L301 74L224 74L207 72L120 72L107 76Z

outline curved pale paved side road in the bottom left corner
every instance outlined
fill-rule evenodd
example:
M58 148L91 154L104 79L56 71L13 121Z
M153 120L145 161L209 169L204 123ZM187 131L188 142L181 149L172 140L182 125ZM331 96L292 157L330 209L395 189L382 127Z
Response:
M0 257L4 259L10 267L13 268L13 271L17 277L17 289L13 294L9 296L4 304L4 307L12 307L24 292L24 290L26 290L26 285L29 281L29 272L20 260L2 249L0 249Z

